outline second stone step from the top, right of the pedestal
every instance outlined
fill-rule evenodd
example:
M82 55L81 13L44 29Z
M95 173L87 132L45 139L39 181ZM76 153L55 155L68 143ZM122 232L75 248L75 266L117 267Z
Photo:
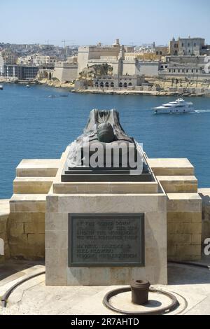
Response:
M165 193L197 193L195 176L156 176Z

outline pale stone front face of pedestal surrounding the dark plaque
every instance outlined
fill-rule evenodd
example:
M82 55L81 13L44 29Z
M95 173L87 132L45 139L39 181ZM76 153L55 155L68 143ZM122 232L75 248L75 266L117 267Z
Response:
M145 214L144 267L69 267L69 214ZM167 283L167 198L159 194L48 195L45 265L47 285L104 286L132 279Z

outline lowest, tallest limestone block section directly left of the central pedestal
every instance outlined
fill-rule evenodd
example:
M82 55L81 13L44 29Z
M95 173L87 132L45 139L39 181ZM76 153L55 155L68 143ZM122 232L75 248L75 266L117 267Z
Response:
M12 258L45 257L45 195L13 195L10 200L8 241Z

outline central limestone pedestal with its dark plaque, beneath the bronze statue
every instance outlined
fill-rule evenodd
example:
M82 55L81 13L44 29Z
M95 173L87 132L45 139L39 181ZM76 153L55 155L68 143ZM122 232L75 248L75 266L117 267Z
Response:
M155 177L152 182L128 184L65 183L60 173L67 155L68 148L46 197L46 284L110 286L129 284L132 279L166 284L167 196ZM124 224L130 232L122 254L122 239L118 240L115 229L124 230ZM92 239L88 239L89 234ZM82 264L80 251L86 257Z

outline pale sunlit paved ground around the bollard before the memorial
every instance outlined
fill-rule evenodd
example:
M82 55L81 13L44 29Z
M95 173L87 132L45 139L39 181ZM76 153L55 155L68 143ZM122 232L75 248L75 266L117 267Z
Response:
M210 265L210 258L202 260ZM172 314L210 314L210 272L209 269L188 265L169 264L169 285L154 286L173 292L180 307ZM43 263L7 262L0 265L0 296L10 286L26 276L44 271ZM104 295L113 290L109 287L52 287L45 286L45 275L37 276L16 288L9 297L8 307L0 306L1 314L69 314L111 315L114 312L102 304ZM137 307L130 303L130 293L113 297L111 304L120 309L138 311L165 306L167 297L151 293L148 307ZM187 302L187 304L186 304Z

